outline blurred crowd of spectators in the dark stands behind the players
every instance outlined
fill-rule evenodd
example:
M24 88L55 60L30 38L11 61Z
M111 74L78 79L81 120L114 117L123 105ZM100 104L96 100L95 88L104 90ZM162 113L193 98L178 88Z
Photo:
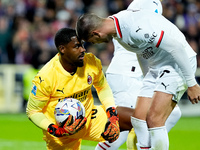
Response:
M0 64L46 63L57 50L54 35L74 28L87 12L107 17L126 9L132 0L0 0ZM200 0L163 0L163 15L185 34L197 52L200 67ZM109 65L113 44L85 45Z

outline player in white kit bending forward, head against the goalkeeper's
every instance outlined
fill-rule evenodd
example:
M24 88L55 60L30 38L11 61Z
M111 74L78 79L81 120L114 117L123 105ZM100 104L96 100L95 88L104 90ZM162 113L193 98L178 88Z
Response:
M91 43L114 37L137 54L145 75L131 118L137 148L168 150L166 119L186 89L192 104L200 100L196 53L184 35L165 17L149 10L124 10L110 18L85 14L79 17L76 31L79 38Z

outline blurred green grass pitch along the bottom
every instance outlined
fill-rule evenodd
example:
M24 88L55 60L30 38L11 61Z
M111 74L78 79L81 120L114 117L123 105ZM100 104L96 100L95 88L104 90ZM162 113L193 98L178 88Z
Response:
M45 150L42 132L25 114L0 114L0 150ZM200 117L182 117L169 133L170 150L200 150ZM83 141L82 150L97 142ZM126 150L126 144L120 147Z

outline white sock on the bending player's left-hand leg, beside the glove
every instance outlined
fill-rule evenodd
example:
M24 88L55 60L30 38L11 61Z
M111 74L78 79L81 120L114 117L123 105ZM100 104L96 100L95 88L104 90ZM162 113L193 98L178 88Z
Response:
M146 121L131 117L131 123L137 135L137 146L150 147L150 135Z

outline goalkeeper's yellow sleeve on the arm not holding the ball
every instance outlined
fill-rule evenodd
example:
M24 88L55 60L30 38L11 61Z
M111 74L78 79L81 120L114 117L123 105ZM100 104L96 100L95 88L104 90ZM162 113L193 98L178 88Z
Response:
M98 73L95 75L93 85L97 91L99 100L101 101L105 109L107 109L108 107L115 106L114 97L102 70L101 61L96 58L96 62Z

